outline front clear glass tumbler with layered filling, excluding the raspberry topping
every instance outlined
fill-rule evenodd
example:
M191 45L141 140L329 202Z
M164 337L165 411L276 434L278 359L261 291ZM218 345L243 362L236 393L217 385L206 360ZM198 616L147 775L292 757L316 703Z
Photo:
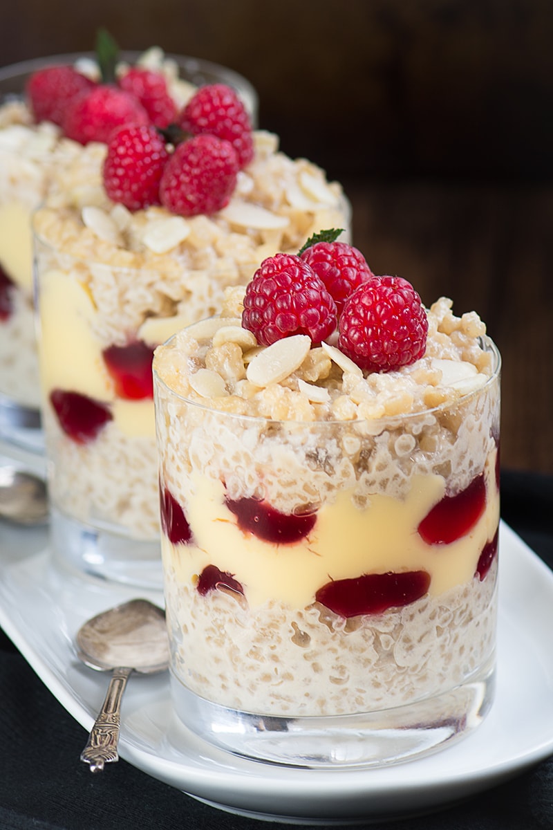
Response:
M224 392L211 347L228 325L211 340L207 323L153 362L177 714L232 752L303 766L387 764L468 734L494 689L497 349L482 339L489 376L454 403L282 420Z

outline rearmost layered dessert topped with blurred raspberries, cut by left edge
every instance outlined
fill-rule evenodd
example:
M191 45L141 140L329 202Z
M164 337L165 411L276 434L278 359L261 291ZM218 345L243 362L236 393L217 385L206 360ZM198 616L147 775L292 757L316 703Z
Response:
M114 126L137 119L167 126L196 91L192 78L216 80L220 70L219 80L225 80L228 72L241 94L251 92L248 105L255 106L255 93L240 76L153 48L132 54L132 63L129 53L114 61L112 103L96 101L90 129L77 100L108 86L104 66L92 56L68 57L71 63L51 58L0 71L0 396L34 410L41 393L33 320L32 212L52 188L62 186L58 177L63 178L66 168L74 169L83 156L86 168L89 151L98 156L105 152Z

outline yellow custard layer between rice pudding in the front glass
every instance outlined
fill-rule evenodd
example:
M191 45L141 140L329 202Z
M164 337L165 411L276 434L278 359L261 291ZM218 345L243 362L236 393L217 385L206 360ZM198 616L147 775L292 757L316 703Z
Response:
M429 593L437 596L473 579L483 547L495 535L495 461L492 452L484 471L486 507L477 524L454 543L436 545L426 544L417 528L444 496L442 476L414 476L405 500L375 495L366 510L354 505L353 491L342 491L318 510L305 539L278 545L240 530L224 503L221 481L194 472L187 520L195 544L172 545L163 535L163 555L183 584L195 583L208 564L233 574L250 608L269 600L304 608L331 579L387 571L425 570L431 578Z

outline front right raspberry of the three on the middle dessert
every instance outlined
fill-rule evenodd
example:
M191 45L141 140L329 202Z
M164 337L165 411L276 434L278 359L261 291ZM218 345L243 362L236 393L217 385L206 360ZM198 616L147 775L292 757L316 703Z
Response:
M180 216L210 216L230 202L237 174L238 158L228 141L196 135L178 144L165 166L162 204Z

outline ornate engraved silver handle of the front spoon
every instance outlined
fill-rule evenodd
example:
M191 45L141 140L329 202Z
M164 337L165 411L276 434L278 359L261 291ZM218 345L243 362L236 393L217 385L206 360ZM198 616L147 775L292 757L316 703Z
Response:
M88 743L80 754L80 760L85 761L85 764L90 764L92 773L101 772L104 764L109 764L109 761L119 761L117 744L121 720L121 698L131 671L133 671L132 668L114 669L104 704L92 727Z

